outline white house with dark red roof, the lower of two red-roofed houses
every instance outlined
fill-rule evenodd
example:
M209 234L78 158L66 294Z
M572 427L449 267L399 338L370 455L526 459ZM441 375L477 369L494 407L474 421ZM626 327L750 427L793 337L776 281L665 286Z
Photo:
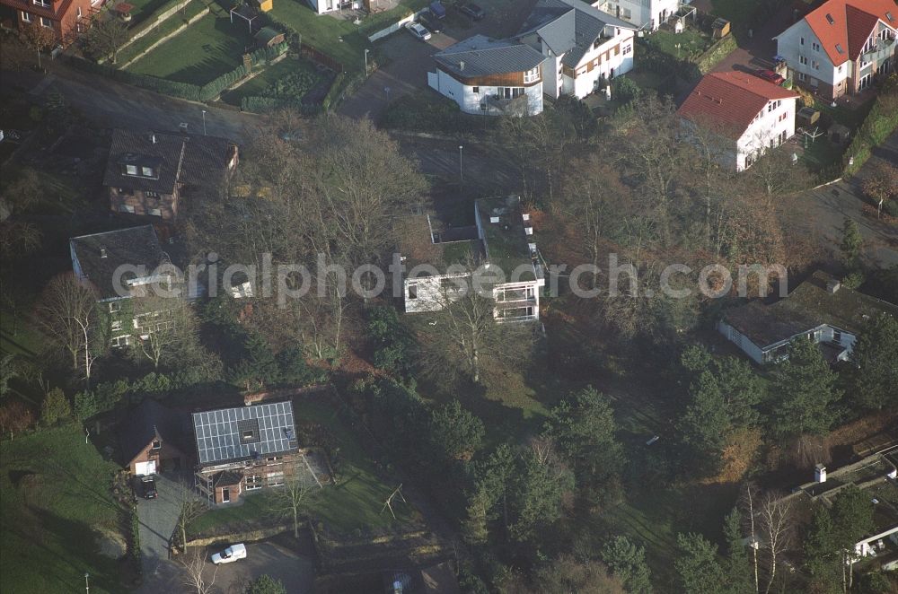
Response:
M798 95L757 76L705 75L678 110L691 126L719 138L719 161L737 171L795 135Z

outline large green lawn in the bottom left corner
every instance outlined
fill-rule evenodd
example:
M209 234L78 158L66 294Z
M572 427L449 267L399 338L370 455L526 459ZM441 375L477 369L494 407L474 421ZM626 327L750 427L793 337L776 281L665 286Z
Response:
M77 424L0 443L0 575L4 591L124 592L119 562L100 555L98 530L118 533L116 467Z

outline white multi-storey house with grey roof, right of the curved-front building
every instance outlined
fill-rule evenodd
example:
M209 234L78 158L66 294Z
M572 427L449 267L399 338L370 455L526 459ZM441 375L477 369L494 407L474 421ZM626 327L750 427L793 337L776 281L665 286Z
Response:
M546 58L545 94L582 99L633 69L637 28L581 0L539 0L517 37Z

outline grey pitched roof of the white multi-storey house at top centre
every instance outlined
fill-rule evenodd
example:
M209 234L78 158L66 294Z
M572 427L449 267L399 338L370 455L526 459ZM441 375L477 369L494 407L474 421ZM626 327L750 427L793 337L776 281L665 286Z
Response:
M581 0L538 0L518 37L536 33L556 55L564 55L562 64L575 68L606 25L636 29L609 13Z

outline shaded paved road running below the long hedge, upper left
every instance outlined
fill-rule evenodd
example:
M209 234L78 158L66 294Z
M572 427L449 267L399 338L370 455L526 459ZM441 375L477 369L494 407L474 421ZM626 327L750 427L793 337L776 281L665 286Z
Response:
M46 98L53 91L61 92L71 105L96 120L101 127L166 131L177 130L181 122L186 122L189 132L202 134L203 109L206 109L207 133L240 143L259 121L258 116L251 114L174 99L104 76L84 73L58 60L48 60L46 65L49 70L46 75L27 69L21 72L4 70L0 73L4 88L20 86L39 98Z

